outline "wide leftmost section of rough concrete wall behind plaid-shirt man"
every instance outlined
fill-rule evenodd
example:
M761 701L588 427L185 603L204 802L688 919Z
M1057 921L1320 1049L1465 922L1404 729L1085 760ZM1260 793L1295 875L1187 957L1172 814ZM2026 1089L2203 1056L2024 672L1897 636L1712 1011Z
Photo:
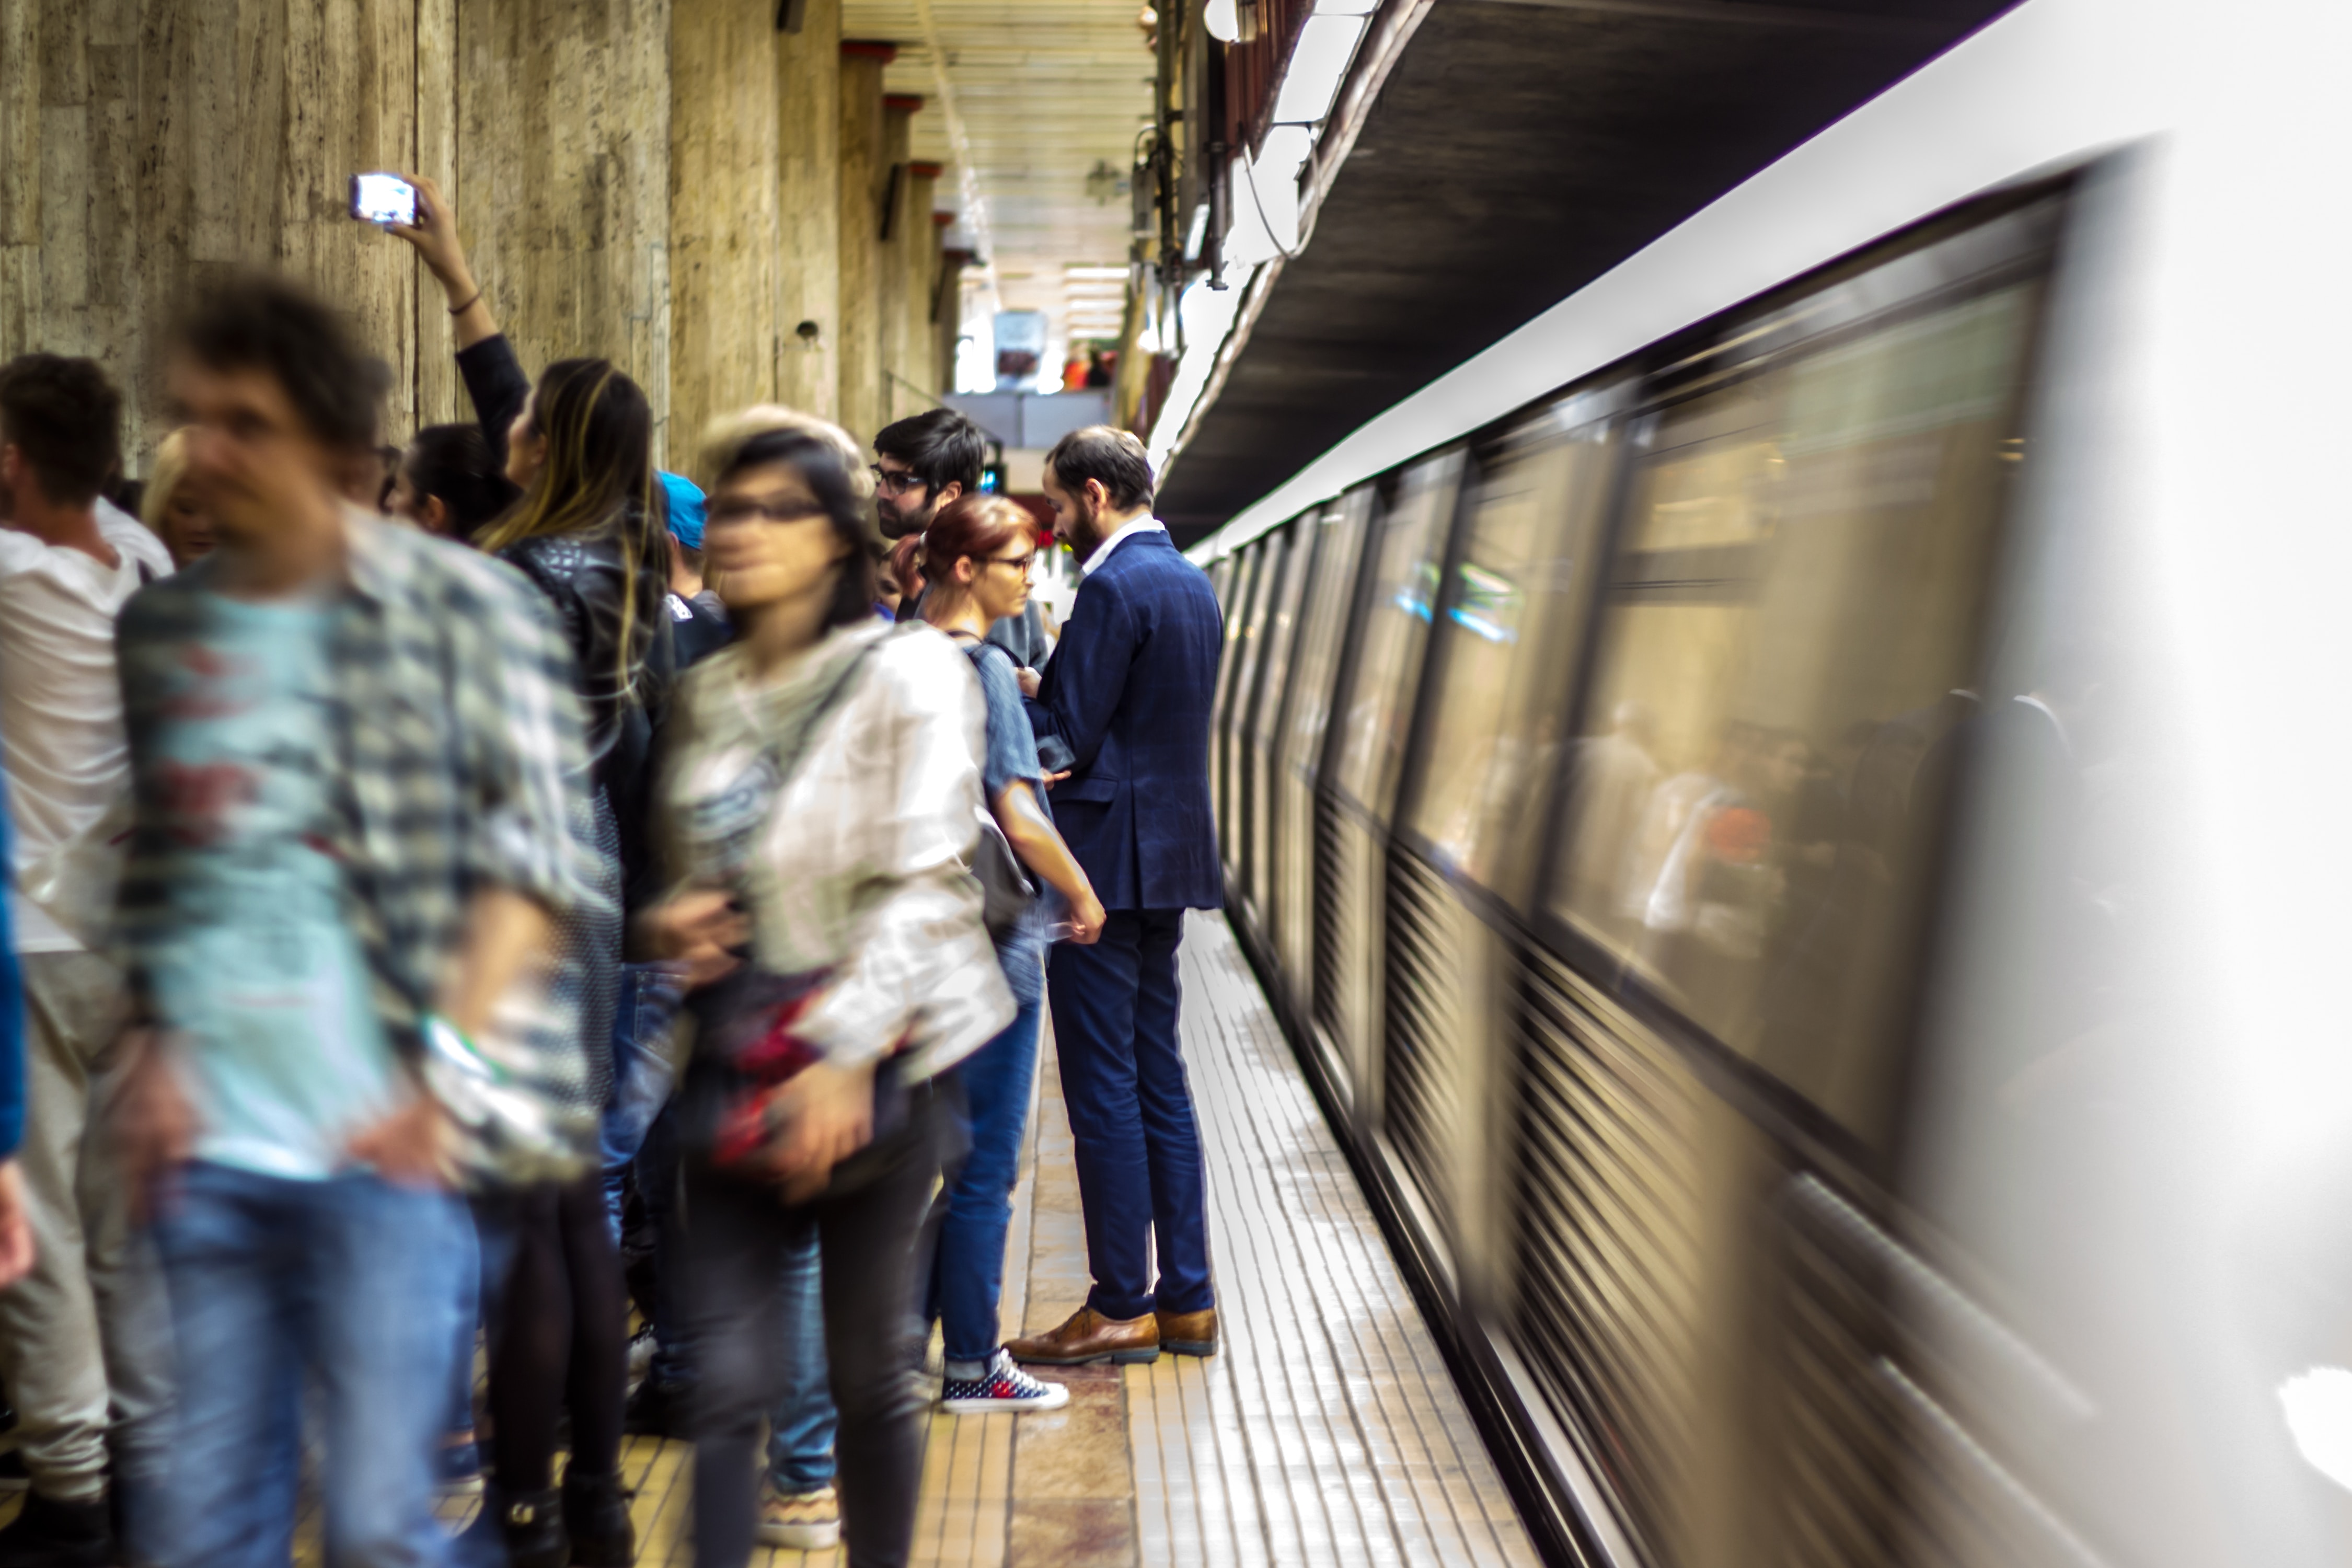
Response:
M416 404L416 266L348 216L416 158L416 0L0 0L0 357L99 360L132 470L162 435L151 355L193 280L280 266L348 308Z

